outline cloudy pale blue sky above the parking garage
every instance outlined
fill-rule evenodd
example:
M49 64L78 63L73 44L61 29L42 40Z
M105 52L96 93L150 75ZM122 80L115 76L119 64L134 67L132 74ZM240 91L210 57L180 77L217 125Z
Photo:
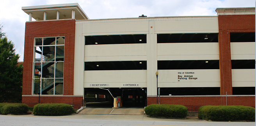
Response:
M21 7L78 3L90 19L158 16L216 16L216 8L255 7L254 0L1 0L0 23L24 57L25 23L28 14ZM33 20L33 19L32 19Z

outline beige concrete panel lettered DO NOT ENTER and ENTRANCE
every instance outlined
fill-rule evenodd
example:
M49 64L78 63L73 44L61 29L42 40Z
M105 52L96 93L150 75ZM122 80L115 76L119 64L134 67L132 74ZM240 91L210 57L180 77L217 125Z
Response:
M146 87L146 82L147 82L147 70L84 71L84 87ZM90 84L106 84L106 85L94 86ZM137 84L137 85L123 85L123 84Z

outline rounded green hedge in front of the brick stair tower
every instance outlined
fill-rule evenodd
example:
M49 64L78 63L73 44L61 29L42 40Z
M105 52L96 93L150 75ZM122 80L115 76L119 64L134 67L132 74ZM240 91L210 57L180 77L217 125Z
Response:
M34 115L59 116L75 113L71 105L64 103L43 103L34 106Z

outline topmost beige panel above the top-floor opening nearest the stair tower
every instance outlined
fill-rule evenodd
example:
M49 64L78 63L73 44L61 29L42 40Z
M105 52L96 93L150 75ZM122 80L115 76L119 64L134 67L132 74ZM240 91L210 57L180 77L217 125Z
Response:
M83 33L109 32L148 32L148 21L115 21L83 24Z

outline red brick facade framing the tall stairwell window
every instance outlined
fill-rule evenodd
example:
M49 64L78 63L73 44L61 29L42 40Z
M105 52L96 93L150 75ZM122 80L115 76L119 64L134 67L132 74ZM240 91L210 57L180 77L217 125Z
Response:
M25 47L23 63L23 88L22 95L32 94L32 68L33 68L33 48L35 37L65 37L64 50L64 82L63 95L73 95L74 88L74 50L75 50L75 19L57 20L57 21L36 21L27 22L25 28ZM36 97L23 96L22 102L33 102ZM82 103L82 97L79 102L75 97L42 97L42 102L69 102ZM81 99L82 98L82 99ZM32 100L33 99L33 100ZM37 98L38 100L38 98ZM44 103L45 103L44 102Z

